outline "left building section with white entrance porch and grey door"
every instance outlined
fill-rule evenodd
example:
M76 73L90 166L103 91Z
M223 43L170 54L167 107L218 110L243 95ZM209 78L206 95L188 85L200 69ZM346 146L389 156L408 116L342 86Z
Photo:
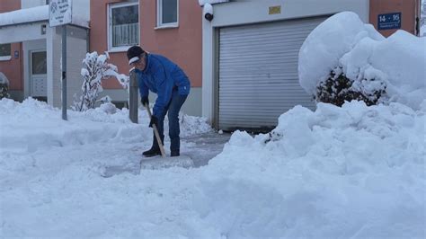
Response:
M0 0L0 72L14 100L33 97L62 105L61 27L49 27L49 0ZM81 92L82 59L88 51L89 4L72 2L67 26L67 106Z

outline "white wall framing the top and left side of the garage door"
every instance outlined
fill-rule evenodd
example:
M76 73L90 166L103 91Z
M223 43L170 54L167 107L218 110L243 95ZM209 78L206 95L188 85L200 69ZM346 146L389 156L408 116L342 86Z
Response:
M281 13L269 14L270 6L281 6ZM312 16L331 15L342 11L358 13L368 22L369 0L241 0L214 4L212 22L202 17L202 115L212 122L215 94L216 29L225 26L271 22Z

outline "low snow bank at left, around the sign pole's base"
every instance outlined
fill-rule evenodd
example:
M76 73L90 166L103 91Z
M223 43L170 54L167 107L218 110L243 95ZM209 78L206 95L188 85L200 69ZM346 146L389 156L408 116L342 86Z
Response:
M0 111L0 147L26 152L104 142L127 137L126 134L135 136L134 128L138 128L130 123L124 112L108 114L92 110L83 114L68 111L68 121L61 120L61 111L31 98L22 103L3 99ZM100 120L105 123L99 123Z

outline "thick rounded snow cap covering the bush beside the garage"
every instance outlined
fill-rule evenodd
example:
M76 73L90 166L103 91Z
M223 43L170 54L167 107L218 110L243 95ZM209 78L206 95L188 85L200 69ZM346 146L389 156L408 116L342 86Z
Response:
M426 38L396 31L385 39L356 13L337 13L306 38L299 52L298 75L307 93L315 94L332 70L373 92L386 84L391 102L419 109L426 95ZM376 81L371 81L376 79Z

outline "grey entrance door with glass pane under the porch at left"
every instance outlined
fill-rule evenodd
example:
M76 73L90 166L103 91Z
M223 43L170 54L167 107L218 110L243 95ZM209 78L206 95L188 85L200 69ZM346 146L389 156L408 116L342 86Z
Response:
M30 69L30 84L31 84L31 97L46 100L48 95L48 65L46 50L31 51L31 69ZM44 99L43 99L44 98Z

